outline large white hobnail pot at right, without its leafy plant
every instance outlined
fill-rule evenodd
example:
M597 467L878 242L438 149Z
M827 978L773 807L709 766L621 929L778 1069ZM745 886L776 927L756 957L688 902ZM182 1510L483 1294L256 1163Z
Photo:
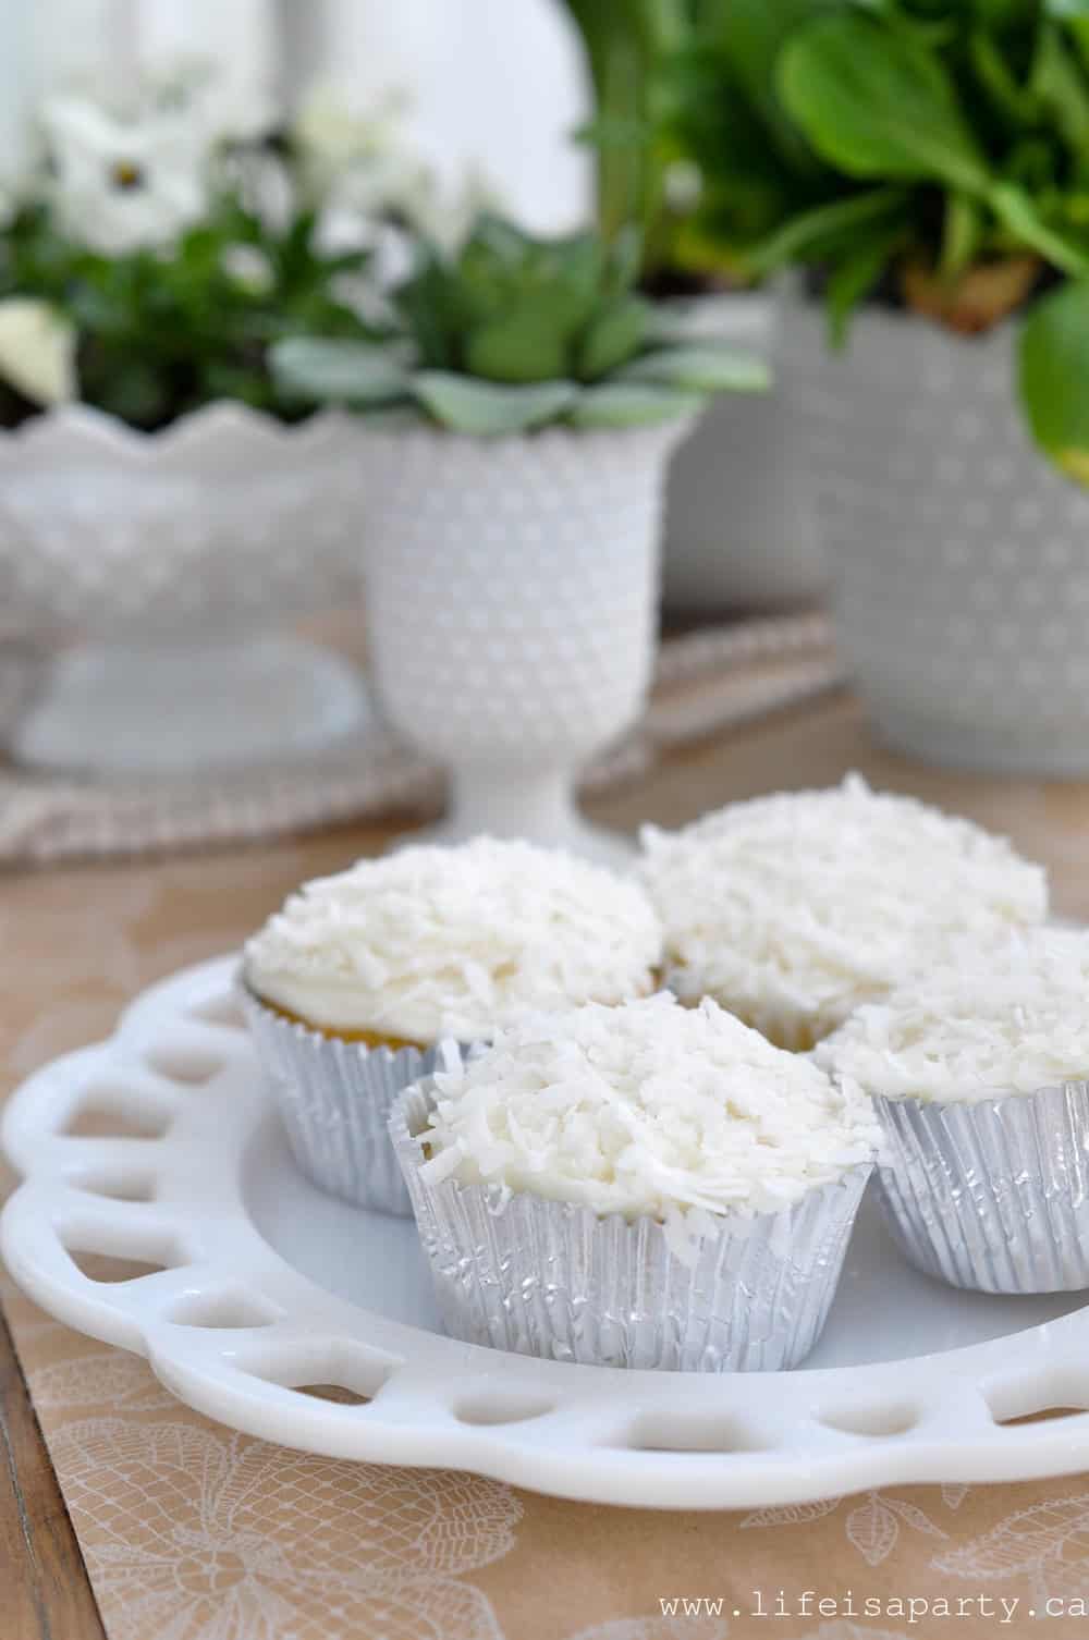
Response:
M1089 495L1030 443L1015 328L791 315L840 645L877 735L997 774L1089 772Z

